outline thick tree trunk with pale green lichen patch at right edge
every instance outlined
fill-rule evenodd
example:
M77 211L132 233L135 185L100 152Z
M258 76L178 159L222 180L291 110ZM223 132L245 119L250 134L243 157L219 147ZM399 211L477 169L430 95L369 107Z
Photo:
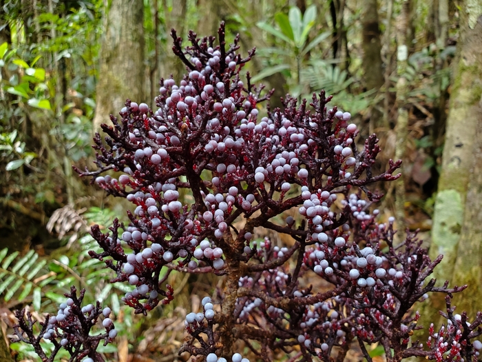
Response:
M469 285L452 305L474 316L482 309L482 0L464 1L460 14L430 257L444 255L434 272L438 284ZM445 302L434 294L424 306L423 325L434 321L437 310L445 310Z

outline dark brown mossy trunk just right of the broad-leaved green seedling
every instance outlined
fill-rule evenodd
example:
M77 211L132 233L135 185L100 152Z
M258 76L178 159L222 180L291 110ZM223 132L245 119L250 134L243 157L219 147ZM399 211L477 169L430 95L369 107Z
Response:
M379 89L384 85L384 71L381 63L381 31L378 21L377 0L362 3L363 57L362 67L367 90ZM379 126L381 112L373 108L370 117L370 130Z

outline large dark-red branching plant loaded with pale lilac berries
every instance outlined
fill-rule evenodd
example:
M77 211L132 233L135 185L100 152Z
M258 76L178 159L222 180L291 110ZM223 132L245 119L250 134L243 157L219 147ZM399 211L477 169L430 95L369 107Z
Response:
M127 100L121 119L103 125L105 142L94 139L98 169L78 170L134 204L129 225L115 220L110 234L92 228L103 252L91 256L116 272L113 281L134 288L125 303L143 314L169 303L171 270L224 275L220 310L205 299L203 312L186 317L190 337L180 352L208 361L242 361L233 355L237 341L263 361L280 351L293 361L342 361L355 341L368 361L371 343L384 346L388 361L476 360L479 344L470 339L482 334L479 316L470 333L439 335L437 347L435 337L429 349L412 341L419 328L412 306L428 292L450 296L465 287L426 281L441 257L430 261L416 234L393 245L393 219L377 223L373 203L381 194L368 186L397 179L401 161L373 175L377 137L357 142L350 113L328 109L324 92L309 104L286 96L282 110L267 105L262 117L260 103L271 92L251 84L249 73L241 80L254 50L241 57L238 37L227 47L224 24L218 35L216 46L213 37L190 32L183 50L173 30L173 50L188 73L179 83L161 79L154 109ZM193 201L181 197L183 189ZM293 210L296 217L280 222ZM268 231L293 245L253 240ZM331 287L314 290L308 279Z

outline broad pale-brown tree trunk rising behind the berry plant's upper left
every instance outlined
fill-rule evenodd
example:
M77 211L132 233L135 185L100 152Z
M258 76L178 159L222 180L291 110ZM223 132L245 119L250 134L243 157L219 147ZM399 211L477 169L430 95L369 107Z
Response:
M127 98L145 99L144 8L142 0L105 1L101 65L96 88L94 132L118 114Z

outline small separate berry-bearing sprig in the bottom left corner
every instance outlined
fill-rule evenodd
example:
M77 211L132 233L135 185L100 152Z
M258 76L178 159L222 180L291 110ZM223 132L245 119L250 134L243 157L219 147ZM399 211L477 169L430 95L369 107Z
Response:
M41 328L37 335L34 332L35 321L32 320L30 312L26 313L25 319L25 310L17 310L15 316L18 323L14 325L16 341L33 345L36 354L39 354L42 361L45 362L54 361L61 348L69 352L70 361L103 362L101 354L96 352L97 346L101 341L104 341L104 345L112 342L117 336L117 330L114 328L112 319L109 318L110 308L101 308L99 302L96 305L82 306L84 294L85 290L81 290L77 297L76 288L72 287L70 294L65 294L67 300L65 303L61 303L57 315L47 315L45 322L40 322ZM101 315L105 332L90 334ZM50 356L47 356L41 347L41 339L53 343L54 350ZM83 359L84 357L86 358Z

